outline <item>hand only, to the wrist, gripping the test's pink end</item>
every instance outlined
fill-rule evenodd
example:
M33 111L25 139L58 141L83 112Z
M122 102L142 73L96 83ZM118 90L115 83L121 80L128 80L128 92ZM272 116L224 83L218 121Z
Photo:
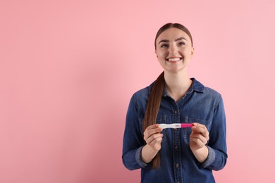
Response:
M197 151L202 149L209 140L209 132L205 125L200 123L193 123L192 133L190 134L190 149L192 151Z

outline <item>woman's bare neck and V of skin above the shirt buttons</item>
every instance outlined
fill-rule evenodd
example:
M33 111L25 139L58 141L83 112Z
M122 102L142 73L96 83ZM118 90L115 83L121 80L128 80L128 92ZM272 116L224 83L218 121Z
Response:
M167 92L175 101L181 99L192 84L187 72L164 72L164 80Z

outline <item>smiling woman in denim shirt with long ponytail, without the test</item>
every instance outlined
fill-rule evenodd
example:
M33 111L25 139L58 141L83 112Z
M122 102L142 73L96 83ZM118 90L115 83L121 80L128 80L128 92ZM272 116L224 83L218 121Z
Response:
M188 77L193 39L178 23L162 26L155 53L164 72L133 94L123 137L123 164L141 168L141 182L215 182L226 165L226 117L221 94ZM190 123L161 129L159 124Z

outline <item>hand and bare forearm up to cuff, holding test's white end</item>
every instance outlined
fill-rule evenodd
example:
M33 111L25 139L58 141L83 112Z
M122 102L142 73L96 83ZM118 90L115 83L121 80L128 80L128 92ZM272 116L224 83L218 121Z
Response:
M142 148L141 158L145 163L152 161L157 152L161 149L161 141L164 136L161 134L162 129L158 124L151 125L146 128L143 139L146 145Z

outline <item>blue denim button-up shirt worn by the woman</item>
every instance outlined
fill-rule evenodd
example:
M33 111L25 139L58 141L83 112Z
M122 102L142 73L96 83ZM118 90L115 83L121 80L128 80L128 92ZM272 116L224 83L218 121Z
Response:
M209 131L209 155L203 163L197 161L189 147L190 128L164 129L160 168L152 169L150 163L142 161L142 120L152 83L130 99L123 137L123 164L129 170L141 168L141 182L215 182L212 170L221 170L226 165L226 116L221 94L192 80L192 86L178 102L164 89L157 123L205 125Z

